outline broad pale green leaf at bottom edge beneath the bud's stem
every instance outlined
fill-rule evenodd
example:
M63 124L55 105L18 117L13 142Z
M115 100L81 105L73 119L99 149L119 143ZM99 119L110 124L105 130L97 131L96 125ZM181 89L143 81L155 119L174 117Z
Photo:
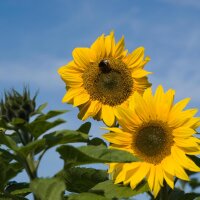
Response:
M62 200L65 183L60 178L40 178L33 180L30 188L40 200Z

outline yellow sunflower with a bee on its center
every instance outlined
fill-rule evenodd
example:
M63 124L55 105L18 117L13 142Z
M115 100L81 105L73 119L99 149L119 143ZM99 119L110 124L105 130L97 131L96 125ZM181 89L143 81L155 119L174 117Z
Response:
M113 32L98 37L90 48L75 48L72 56L58 73L66 83L63 102L78 106L82 120L92 116L112 126L116 109L127 106L134 91L143 93L151 86L144 48L127 53L124 37L115 43Z

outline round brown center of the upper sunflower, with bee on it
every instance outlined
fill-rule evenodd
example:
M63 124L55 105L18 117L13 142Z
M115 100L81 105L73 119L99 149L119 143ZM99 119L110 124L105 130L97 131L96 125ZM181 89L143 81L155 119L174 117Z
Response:
M133 91L131 72L121 60L109 58L92 63L82 78L90 98L105 105L120 105Z

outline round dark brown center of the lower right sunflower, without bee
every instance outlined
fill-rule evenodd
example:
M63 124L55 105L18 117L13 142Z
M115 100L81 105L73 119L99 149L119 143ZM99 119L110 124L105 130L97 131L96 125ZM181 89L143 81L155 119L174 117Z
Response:
M138 157L153 164L170 155L172 145L171 130L160 121L143 124L133 138L133 150Z

